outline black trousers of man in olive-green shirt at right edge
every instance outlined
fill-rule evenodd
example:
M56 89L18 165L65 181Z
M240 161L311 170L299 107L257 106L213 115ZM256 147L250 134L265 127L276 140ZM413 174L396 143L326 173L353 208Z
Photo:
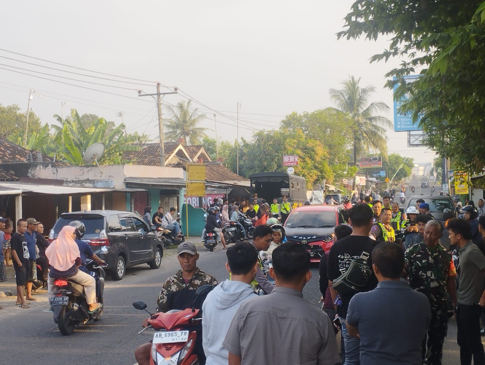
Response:
M479 305L458 304L456 312L456 326L458 332L456 342L460 347L461 365L485 365L485 352L480 336L480 315L482 308Z

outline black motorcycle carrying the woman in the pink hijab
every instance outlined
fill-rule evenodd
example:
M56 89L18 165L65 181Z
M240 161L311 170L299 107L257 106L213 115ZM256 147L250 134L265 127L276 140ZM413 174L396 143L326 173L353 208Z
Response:
M91 275L96 280L96 296L99 303L103 303L104 278L106 273L103 270L106 265L97 265L94 261L86 264L86 270L92 272ZM98 321L103 315L101 307L94 313L88 313L88 304L84 287L69 278L58 278L54 281L50 298L50 308L52 309L54 323L57 324L59 332L67 336L74 332L74 328L79 324L84 324L89 320Z

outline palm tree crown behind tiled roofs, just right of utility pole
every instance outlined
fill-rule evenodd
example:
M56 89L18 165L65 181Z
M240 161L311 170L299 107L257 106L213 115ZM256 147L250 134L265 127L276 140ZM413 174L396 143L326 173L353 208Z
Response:
M164 119L165 140L175 142L182 139L182 143L191 145L201 143L204 137L207 137L207 128L197 127L197 124L206 117L205 114L197 114L198 109L190 111L192 100L179 101L175 108L168 107L170 119Z

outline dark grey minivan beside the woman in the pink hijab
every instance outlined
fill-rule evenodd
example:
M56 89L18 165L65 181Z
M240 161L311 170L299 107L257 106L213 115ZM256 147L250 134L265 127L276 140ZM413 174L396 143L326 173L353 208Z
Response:
M64 213L50 230L49 241L73 220L84 223L86 232L82 240L106 261L114 280L123 279L127 266L160 267L163 243L140 216L115 210Z

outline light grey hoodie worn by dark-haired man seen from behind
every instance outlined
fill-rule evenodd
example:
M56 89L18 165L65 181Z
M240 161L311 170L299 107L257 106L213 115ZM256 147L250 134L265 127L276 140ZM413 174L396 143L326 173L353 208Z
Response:
M202 304L202 344L207 365L227 365L228 351L222 347L232 318L242 302L257 298L251 285L226 280L216 286Z

